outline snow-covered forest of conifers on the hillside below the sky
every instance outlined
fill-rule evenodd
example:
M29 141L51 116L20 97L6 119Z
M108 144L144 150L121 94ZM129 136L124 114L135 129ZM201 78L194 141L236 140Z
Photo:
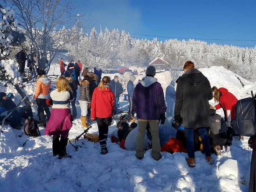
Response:
M75 56L77 26L53 31L65 48ZM198 68L224 66L250 81L256 81L256 47L254 49L229 45L208 45L207 42L157 38L136 39L127 32L108 28L104 31L91 29L90 33L79 30L78 59L85 66L113 67L118 64L143 67L156 57L163 57L171 68L181 69L185 61L195 61Z

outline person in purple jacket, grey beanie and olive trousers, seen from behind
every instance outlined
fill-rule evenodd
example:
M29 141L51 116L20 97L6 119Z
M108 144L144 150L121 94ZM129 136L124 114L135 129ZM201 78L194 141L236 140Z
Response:
M167 107L164 101L163 88L154 78L155 75L156 69L153 66L149 66L146 70L146 77L143 77L134 89L133 106L139 123L136 145L136 157L138 159L142 159L145 153L144 136L148 122L152 135L152 157L155 160L159 160L162 157L159 142L159 121L164 124Z

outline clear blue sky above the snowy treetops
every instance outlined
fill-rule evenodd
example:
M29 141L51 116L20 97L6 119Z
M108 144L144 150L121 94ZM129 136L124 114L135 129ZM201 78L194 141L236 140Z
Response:
M74 4L85 30L102 25L110 31L124 29L136 38L256 40L256 0L74 0ZM204 41L256 45L256 41Z

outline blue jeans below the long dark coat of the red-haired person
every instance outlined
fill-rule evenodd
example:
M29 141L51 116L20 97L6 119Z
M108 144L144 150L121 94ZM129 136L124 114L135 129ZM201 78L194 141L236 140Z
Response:
M194 129L193 128L185 128L187 134L187 150L188 150L188 157L195 158L194 152ZM199 134L202 138L203 142L203 149L205 150L205 156L211 156L211 149L210 149L210 142L206 132L205 127L198 128Z

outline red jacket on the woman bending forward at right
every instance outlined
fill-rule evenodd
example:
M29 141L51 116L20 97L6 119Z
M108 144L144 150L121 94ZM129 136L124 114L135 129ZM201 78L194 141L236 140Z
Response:
M231 122L235 119L235 106L237 104L237 97L228 92L225 88L218 89L221 92L219 104L217 104L216 110L223 108L225 113L225 121Z

